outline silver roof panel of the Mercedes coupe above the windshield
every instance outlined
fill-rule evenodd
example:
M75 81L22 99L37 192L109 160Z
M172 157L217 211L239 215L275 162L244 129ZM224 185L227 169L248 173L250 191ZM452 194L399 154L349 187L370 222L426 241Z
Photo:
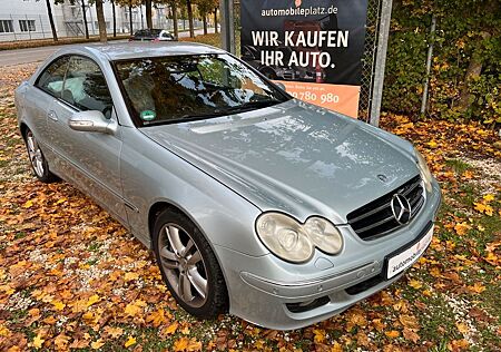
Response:
M197 42L120 42L109 45L78 45L61 49L58 53L71 55L88 52L108 61L137 59L148 57L200 55L200 53L224 53L226 51L197 43Z

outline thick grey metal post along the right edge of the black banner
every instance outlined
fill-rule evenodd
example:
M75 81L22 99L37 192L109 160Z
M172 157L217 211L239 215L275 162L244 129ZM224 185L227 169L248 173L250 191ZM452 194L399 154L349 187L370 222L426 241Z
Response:
M382 0L377 55L372 86L371 125L380 125L381 102L383 100L384 68L386 66L387 38L392 19L392 0Z

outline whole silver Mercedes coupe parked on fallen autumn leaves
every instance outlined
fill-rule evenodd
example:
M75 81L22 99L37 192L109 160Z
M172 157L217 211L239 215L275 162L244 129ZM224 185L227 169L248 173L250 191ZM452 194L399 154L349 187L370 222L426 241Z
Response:
M399 280L432 238L441 193L410 143L216 48L67 47L16 105L38 179L73 184L153 248L198 317L325 320Z

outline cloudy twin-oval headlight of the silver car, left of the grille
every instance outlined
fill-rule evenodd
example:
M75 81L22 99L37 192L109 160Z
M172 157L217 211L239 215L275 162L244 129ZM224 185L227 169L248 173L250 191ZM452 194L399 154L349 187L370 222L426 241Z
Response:
M340 253L343 238L337 228L322 217L311 217L299 224L281 213L265 213L256 221L256 232L276 256L294 263L312 258L315 246L328 254Z

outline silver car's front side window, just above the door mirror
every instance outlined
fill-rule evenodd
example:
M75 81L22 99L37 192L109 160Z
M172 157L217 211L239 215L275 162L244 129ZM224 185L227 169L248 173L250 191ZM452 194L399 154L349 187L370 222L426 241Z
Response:
M111 117L112 100L99 66L84 57L71 57L61 99L80 110L99 110Z

